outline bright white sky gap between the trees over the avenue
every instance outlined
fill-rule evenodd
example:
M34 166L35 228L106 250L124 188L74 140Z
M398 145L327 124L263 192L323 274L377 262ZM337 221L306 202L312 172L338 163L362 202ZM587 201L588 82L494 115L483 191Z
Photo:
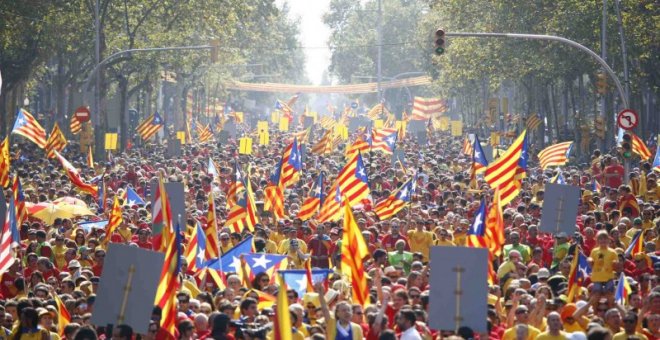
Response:
M330 49L327 47L330 28L322 19L330 0L277 0L280 6L285 2L289 4L291 19L300 19L300 41L307 47L303 49L307 78L318 85L323 71L330 66Z

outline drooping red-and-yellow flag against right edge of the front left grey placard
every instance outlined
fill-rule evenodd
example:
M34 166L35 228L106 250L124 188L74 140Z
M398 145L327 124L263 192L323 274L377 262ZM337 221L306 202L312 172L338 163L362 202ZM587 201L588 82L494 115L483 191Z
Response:
M179 273L181 272L181 231L179 224L174 227L174 238L167 245L163 269L160 272L158 289L154 304L163 310L160 327L173 339L176 339L177 305L176 292L179 289Z

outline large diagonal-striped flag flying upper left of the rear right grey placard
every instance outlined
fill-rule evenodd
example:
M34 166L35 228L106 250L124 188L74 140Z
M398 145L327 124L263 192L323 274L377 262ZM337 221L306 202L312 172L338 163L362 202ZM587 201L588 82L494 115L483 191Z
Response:
M500 204L506 205L520 193L520 180L527 165L526 136L523 131L500 158L486 167L485 179L493 189L500 191Z

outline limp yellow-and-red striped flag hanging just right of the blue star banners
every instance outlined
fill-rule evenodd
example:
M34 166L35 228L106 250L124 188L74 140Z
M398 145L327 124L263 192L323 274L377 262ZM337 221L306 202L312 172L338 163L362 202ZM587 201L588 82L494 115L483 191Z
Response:
M344 235L341 240L341 271L350 278L353 302L362 306L369 304L369 286L364 275L364 258L369 248L355 221L350 204L344 206Z

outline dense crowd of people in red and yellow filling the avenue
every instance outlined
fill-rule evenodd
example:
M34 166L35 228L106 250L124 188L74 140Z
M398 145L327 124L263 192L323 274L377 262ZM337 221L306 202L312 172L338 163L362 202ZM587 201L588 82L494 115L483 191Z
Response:
M315 134L318 138L320 133ZM342 223L318 223L297 218L303 200L322 173L328 183L345 163L343 144L330 154L304 154L298 183L285 192L281 220L262 212L264 190L280 160L287 134L271 133L270 144L255 146L251 155L239 155L235 141L186 144L183 155L166 158L158 144L133 147L115 154L112 162L97 162L88 168L75 143L63 153L81 169L84 178L103 174L107 208L103 214L57 218L46 223L29 217L20 226L17 260L2 273L0 283L0 338L8 339L161 339L162 310L154 308L147 334L136 334L129 325L112 329L93 325L96 292L103 274L107 242L144 249L152 248L150 183L160 173L166 181L185 185L187 221L183 231L189 240L197 221L206 222L209 193L214 193L217 233L221 253L248 236L255 252L284 254L289 268L303 269L306 260L315 268L334 271L328 282L317 284L300 296L287 290L293 339L639 339L660 337L660 189L658 174L646 161L634 163L632 180L623 178L616 150L595 151L590 162L572 159L562 167L569 185L581 188L581 202L574 233L555 235L539 231L544 183L558 169L542 170L531 145L527 178L521 193L504 208L506 244L494 260L497 280L484 282L488 289L487 320L466 320L458 330L429 326L429 305L442 304L429 296L429 249L432 246L466 246L475 212L492 190L481 176L470 187L472 156L462 152L463 137L433 133L427 145L411 136L399 140L405 161L374 152L364 155L371 188L370 202L354 207L354 215L370 254L364 259L364 275L370 302L356 303L350 280L338 269L341 258ZM307 143L307 150L315 141ZM57 161L21 137L13 138L11 173L22 181L28 204L75 197L97 211L98 201L81 193L65 176ZM207 172L208 160L219 167L219 176ZM259 207L255 230L236 232L224 222L231 206L227 191L233 180L234 162L249 173ZM638 164L638 165L637 165ZM378 220L376 202L417 175L412 202L396 216ZM602 184L595 190L595 181ZM640 190L640 180L646 181ZM630 184L626 184L630 183ZM146 204L129 204L123 197L132 188ZM328 184L327 188L330 187ZM6 192L6 195L11 195ZM623 204L634 195L637 205ZM122 223L112 235L104 229L85 229L86 220L107 219L115 196L122 203ZM624 206L625 205L625 206ZM643 231L643 249L626 250ZM187 242L187 241L186 241ZM184 243L186 243L184 242ZM576 252L577 247L577 252ZM584 254L591 269L569 299L569 279L575 254ZM451 259L445 259L451 261ZM156 264L154 264L156 265ZM245 266L245 261L243 261ZM177 329L181 339L277 338L272 325L276 306L263 303L263 296L276 296L277 280L264 273L247 280L240 273L224 273L226 286L201 281L182 264L177 292ZM615 299L618 280L624 277L630 292L623 302ZM70 322L58 320L61 301ZM475 332L469 324L487 322L487 332Z

